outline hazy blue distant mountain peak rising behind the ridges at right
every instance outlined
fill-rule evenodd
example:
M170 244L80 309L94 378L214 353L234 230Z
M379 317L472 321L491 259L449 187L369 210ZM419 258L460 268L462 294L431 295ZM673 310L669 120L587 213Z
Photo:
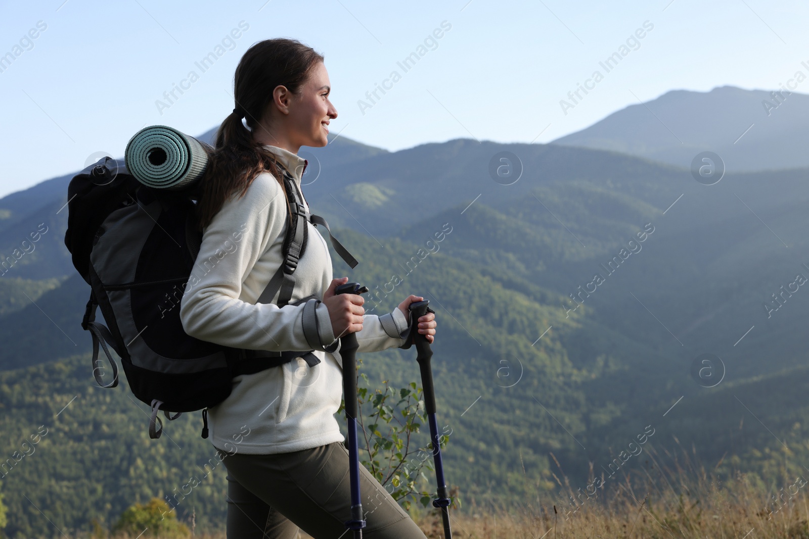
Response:
M800 89L725 85L710 91L671 90L632 103L552 144L618 151L684 168L706 150L719 154L727 171L809 166L804 150L809 143L809 96Z

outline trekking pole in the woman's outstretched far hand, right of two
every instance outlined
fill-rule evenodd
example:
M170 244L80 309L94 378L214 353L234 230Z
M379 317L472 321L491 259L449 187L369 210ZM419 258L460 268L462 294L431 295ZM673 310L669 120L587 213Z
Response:
M427 314L435 313L427 305L430 300L413 301L408 308L410 310L410 334L412 342L416 345L418 366L421 369L421 387L424 391L424 406L427 410L427 421L430 423L430 438L433 443L433 463L435 465L435 478L438 482L438 498L433 500L433 507L441 509L441 518L444 523L444 537L452 539L450 528L451 499L447 495L447 483L444 481L444 466L441 460L441 442L438 439L438 420L435 419L435 390L433 388L433 369L430 366L430 359L433 357L433 350L430 348L430 341L427 336L418 332L418 319ZM409 345L405 348L409 348Z

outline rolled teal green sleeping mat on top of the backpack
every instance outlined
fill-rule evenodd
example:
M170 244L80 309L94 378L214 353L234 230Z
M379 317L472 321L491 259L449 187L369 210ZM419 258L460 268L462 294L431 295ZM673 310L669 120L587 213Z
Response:
M125 152L129 174L157 189L179 190L201 179L208 154L199 141L166 125L142 128Z

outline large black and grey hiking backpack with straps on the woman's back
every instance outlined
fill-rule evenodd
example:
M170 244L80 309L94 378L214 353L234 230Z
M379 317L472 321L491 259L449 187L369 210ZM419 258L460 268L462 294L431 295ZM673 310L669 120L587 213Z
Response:
M301 203L303 193L289 172L279 168L293 210L292 223L287 221L285 262L256 303L270 303L278 293L276 305L282 307L290 301L294 271L306 250L307 221L326 227L332 246L345 263L353 268L358 262L332 237L322 217L307 212ZM185 333L180 300L202 239L194 221L198 187L198 182L179 191L148 187L129 174L124 161L109 157L75 175L68 186L65 245L74 267L92 288L82 327L91 332L93 376L101 387L118 385L118 368L109 344L121 357L133 394L151 406L150 438L159 438L163 432L160 410L169 420L183 412L202 410L201 436L207 438L207 408L231 394L231 378L298 357L310 367L320 363L313 350L246 350ZM303 312L304 332L310 343L319 343L317 300L313 299L314 294L292 305L308 303ZM109 327L95 321L96 306ZM106 384L99 344L112 365L112 381ZM335 341L325 350L334 352L338 344Z

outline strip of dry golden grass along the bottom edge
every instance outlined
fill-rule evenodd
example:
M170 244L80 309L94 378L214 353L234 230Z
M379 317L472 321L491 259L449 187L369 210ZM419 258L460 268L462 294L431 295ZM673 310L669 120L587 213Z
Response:
M743 479L739 479L743 481ZM790 503L772 515L765 510L765 496L754 495L749 486L741 491L714 487L689 495L641 498L634 503L613 499L609 503L582 506L565 514L553 505L536 511L452 513L452 535L457 539L809 539L809 503L798 493ZM786 496L785 496L786 498ZM793 503L794 502L794 503ZM437 512L417 519L429 539L443 539L441 517ZM225 539L224 533L196 533L195 539ZM300 534L307 539L306 533ZM348 536L346 536L348 537Z

